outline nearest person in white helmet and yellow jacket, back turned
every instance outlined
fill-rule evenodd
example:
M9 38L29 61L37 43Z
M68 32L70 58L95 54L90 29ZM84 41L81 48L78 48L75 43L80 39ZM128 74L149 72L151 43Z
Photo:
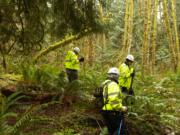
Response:
M122 105L122 92L118 85L118 78L118 68L110 68L108 71L108 79L102 84L104 86L104 106L102 107L101 114L110 135L114 135L114 133L117 132L121 122L121 133L125 133L125 123L122 113L127 111L127 107Z

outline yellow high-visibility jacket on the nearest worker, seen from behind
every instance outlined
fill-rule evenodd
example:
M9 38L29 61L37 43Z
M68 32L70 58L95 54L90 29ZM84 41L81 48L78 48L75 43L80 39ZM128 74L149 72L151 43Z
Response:
M120 111L122 108L122 92L120 90L119 85L111 80L107 85L103 88L103 100L104 106L102 110L107 111Z

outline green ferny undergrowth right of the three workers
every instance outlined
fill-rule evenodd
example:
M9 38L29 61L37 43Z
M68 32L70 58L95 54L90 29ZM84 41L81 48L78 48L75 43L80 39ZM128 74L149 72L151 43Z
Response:
M139 134L180 133L180 73L168 73L161 80L147 76L135 80L135 102L129 108L131 127Z

